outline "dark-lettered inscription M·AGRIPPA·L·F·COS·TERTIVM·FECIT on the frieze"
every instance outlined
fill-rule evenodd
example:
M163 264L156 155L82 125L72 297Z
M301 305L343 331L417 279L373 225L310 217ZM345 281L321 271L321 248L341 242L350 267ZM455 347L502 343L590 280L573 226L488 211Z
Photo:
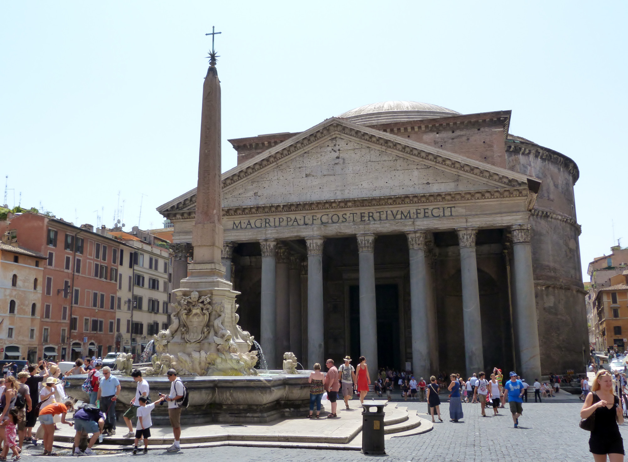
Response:
M455 207L423 207L409 210L376 210L375 212L323 213L286 217L234 220L231 229L279 228L288 226L335 225L337 223L384 222L416 218L453 217ZM227 229L229 227L227 226Z

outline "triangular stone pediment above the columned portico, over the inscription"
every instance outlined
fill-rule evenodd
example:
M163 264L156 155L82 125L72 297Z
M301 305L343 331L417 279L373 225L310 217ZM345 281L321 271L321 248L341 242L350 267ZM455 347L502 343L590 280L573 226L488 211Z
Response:
M223 207L525 188L539 180L332 117L222 174ZM536 192L536 191L534 191ZM162 205L192 212L196 190Z

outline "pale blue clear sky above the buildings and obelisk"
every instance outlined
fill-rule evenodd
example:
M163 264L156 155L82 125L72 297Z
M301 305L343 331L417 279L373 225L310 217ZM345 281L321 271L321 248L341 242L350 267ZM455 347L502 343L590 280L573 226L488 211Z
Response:
M223 171L236 165L227 139L371 102L511 109L513 134L580 168L586 272L613 239L628 245L627 13L615 1L3 2L7 203L21 193L75 224L161 227L155 208L196 186L215 25Z

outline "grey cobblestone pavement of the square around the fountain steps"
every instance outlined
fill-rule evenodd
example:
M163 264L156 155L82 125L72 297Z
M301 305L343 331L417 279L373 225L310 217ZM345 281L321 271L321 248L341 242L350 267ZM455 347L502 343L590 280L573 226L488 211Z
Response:
M464 419L457 424L449 422L448 404L441 405L442 423L436 420L433 431L419 436L393 438L386 441L386 456L365 456L358 451L324 451L317 449L278 449L223 446L211 449L184 449L179 453L149 451L148 455L90 457L109 461L119 457L166 458L186 462L201 462L208 458L245 461L582 461L593 460L588 452L588 433L578 427L582 403L524 403L519 429L512 425L509 410L500 409L500 416L492 417L492 409L480 416L479 404L464 404ZM425 412L426 404L408 402L409 409ZM430 418L428 416L423 416ZM620 427L628 436L628 424ZM354 443L358 443L355 442ZM359 443L358 443L359 444Z

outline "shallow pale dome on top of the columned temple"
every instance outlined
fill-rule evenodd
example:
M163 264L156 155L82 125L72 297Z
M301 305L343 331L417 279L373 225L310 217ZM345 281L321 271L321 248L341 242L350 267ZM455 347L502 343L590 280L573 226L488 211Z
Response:
M338 117L359 125L379 125L393 122L422 121L459 114L460 112L435 104L416 101L382 101L347 110Z

